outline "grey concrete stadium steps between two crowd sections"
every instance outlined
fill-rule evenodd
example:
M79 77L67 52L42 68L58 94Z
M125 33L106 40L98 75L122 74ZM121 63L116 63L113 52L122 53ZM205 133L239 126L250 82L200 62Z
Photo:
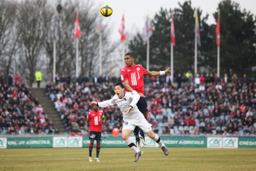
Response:
M51 99L46 95L45 88L30 88L29 90L35 98L38 98L39 104L44 108L44 112L47 114L49 120L52 120L54 127L58 128L60 133L65 133L66 127Z

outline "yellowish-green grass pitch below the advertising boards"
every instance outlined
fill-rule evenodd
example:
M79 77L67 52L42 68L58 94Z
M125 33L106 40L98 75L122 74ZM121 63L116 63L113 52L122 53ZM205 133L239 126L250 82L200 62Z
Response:
M0 149L0 170L256 170L256 149L142 148L134 162L130 148L101 148L100 162L88 148ZM93 148L93 159L96 148Z

